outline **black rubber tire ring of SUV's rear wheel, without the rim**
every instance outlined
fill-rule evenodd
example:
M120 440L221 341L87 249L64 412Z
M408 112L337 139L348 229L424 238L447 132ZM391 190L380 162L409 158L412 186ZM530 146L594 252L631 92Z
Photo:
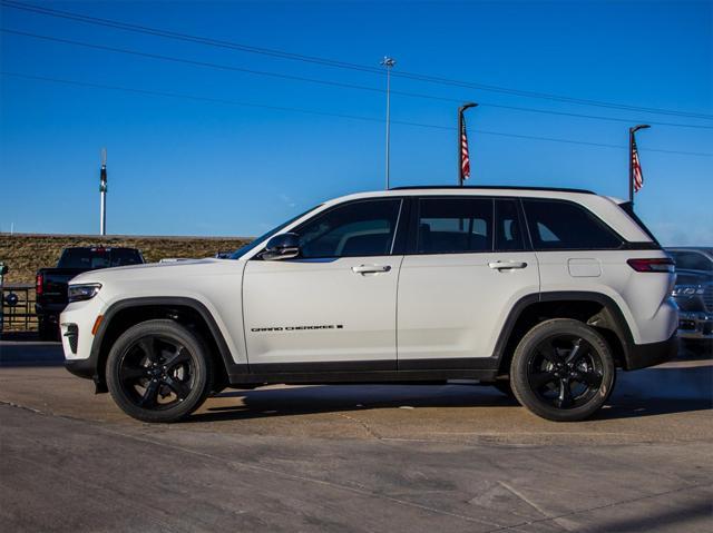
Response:
M528 361L535 347L548 337L556 335L576 335L584 338L596 351L602 361L602 385L596 396L579 407L560 409L544 403L528 383ZM510 384L517 399L531 413L554 422L577 422L588 418L607 401L614 388L616 367L612 351L594 328L569 318L554 318L543 322L530 329L518 344L510 366Z

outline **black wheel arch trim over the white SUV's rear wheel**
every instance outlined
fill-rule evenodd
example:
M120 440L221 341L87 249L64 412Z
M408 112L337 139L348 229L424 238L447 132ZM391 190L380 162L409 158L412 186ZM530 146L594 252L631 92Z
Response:
M499 374L508 374L517 344L536 324L549 318L575 318L594 327L609 343L617 366L628 369L634 337L618 304L595 292L547 292L520 298L510 310L496 343Z

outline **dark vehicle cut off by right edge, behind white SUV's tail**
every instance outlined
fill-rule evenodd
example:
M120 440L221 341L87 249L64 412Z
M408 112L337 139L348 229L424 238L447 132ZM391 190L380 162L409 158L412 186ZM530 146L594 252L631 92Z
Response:
M680 308L678 337L687 348L713 346L713 248L680 247L667 251L676 261L673 296Z

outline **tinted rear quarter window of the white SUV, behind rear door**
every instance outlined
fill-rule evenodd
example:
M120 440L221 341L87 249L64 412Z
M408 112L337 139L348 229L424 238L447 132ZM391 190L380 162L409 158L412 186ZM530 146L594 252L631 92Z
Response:
M623 239L583 206L522 199L533 246L539 250L616 249Z

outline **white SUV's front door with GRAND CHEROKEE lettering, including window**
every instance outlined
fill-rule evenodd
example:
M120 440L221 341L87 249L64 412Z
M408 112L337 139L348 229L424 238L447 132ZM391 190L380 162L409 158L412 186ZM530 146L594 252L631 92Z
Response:
M297 258L247 263L251 372L395 369L401 205L369 199L328 208L293 230Z

